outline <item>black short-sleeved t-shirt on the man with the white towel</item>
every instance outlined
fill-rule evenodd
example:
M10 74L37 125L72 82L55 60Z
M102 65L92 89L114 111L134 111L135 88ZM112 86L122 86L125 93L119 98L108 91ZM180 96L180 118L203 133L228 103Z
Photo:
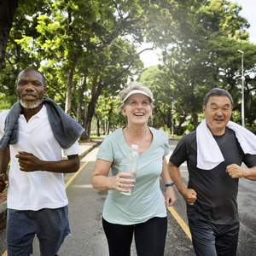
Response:
M188 218L206 220L212 224L233 224L238 220L238 178L230 177L226 166L244 162L247 167L256 166L255 154L244 154L234 131L226 127L224 135L214 136L224 162L212 170L202 170L197 165L196 132L183 136L174 149L170 162L180 166L187 161L189 189L195 189L197 200L193 206L187 204Z

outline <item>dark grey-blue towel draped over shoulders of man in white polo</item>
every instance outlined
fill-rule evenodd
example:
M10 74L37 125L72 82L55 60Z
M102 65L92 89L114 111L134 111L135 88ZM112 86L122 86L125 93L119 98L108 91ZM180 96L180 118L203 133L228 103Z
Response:
M44 97L44 105L47 109L49 125L56 141L61 145L61 148L71 147L82 135L84 128L65 113L55 101ZM18 119L21 110L20 102L15 102L12 108L10 108L4 123L4 133L0 140L0 149L4 149L8 144L18 142Z

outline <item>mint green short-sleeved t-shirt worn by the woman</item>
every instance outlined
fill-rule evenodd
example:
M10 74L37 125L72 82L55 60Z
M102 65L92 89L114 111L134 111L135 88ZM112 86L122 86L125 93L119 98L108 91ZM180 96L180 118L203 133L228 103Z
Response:
M139 154L137 178L132 195L123 195L116 189L108 190L103 218L112 224L139 224L154 217L166 217L165 201L160 190L163 157L170 148L165 131L149 127L153 141L143 154ZM125 142L122 129L105 137L97 158L112 162L111 173L123 172L126 156L131 148Z

